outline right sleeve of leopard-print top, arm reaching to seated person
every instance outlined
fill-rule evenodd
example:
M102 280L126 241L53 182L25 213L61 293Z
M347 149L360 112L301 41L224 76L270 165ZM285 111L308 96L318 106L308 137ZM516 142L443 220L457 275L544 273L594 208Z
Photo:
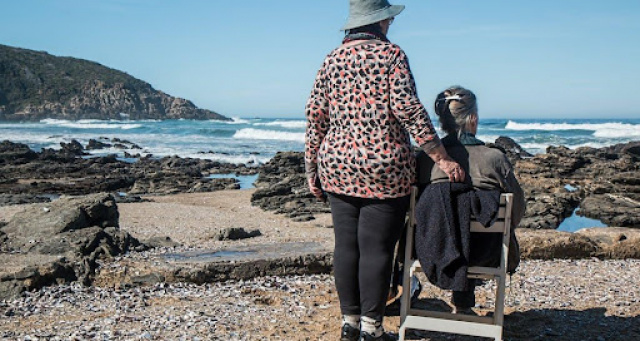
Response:
M423 150L438 146L440 139L418 98L409 60L402 50L398 51L389 72L391 112Z

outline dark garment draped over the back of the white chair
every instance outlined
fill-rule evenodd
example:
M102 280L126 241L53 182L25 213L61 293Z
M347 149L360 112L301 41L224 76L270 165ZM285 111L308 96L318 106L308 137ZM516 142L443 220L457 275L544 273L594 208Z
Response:
M425 188L416 205L415 248L431 283L442 289L473 289L467 280L471 256L471 215L491 226L500 208L499 191L477 191L463 183Z

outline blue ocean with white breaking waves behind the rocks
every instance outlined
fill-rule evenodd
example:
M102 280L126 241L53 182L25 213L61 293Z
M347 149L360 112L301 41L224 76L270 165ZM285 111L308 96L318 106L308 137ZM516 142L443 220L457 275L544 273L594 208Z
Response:
M80 120L45 119L39 122L0 122L0 140L42 148L60 148L60 142L105 137L125 139L142 150L103 149L96 155L177 155L222 162L263 164L278 151L304 149L305 120L300 118L234 118L231 122L194 120ZM441 135L442 136L442 135ZM504 120L484 119L478 138L493 142L508 136L533 154L549 145L569 148L604 147L640 140L639 119ZM135 160L133 160L135 161Z

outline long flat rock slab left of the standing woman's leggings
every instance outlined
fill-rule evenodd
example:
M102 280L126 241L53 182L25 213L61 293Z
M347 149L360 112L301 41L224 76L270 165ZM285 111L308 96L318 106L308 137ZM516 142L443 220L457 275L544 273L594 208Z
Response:
M215 250L131 255L102 267L99 286L197 284L263 276L330 273L333 252L315 242L291 242Z

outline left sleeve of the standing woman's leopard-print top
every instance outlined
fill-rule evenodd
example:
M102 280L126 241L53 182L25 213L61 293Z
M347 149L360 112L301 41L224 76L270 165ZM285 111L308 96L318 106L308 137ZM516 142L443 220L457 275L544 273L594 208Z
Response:
M326 63L326 62L325 62ZM305 133L305 162L318 163L318 150L329 129L329 100L325 85L325 65L318 71L311 95L305 106L307 129Z

